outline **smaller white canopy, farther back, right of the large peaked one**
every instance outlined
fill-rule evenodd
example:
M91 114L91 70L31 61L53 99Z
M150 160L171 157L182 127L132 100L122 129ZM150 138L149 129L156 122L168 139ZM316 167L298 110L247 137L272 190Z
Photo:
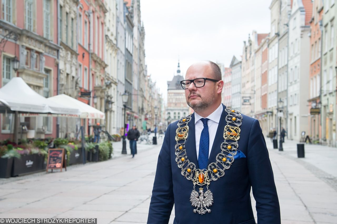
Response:
M62 104L64 106L73 106L80 110L80 118L89 118L89 119L105 119L105 113L96 108L85 104L79 100L76 100L72 97L69 97L65 94L60 94L54 97L48 98L49 101L53 103Z

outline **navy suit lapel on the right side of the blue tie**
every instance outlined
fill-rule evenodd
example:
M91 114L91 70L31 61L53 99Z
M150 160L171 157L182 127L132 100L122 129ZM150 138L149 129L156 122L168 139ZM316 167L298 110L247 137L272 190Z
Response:
M223 128L226 125L226 119L225 118L227 116L227 113L225 112L226 106L222 104L222 108L223 108L223 110L222 110L222 114L221 114L221 117L220 117L218 129L216 130L214 142L213 142L213 145L212 145L211 154L210 154L210 157L208 159L208 164L210 164L211 162L216 162L216 155L221 152L220 146L223 142Z

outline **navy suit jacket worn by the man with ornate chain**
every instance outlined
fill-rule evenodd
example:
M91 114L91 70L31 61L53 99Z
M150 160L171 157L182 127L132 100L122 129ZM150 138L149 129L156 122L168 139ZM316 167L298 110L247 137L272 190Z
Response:
M224 141L223 130L226 125L225 106L209 156L208 164L215 162L221 152ZM175 161L176 129L178 121L168 125L164 142L159 153L157 171L153 185L148 224L168 223L175 205L174 224L189 223L255 223L251 207L250 189L256 200L258 224L278 224L280 207L277 197L274 176L269 160L266 142L258 120L242 115L241 133L238 150L246 158L234 160L225 175L211 181L209 189L213 192L214 202L209 207L211 213L204 215L193 213L190 194L193 183L181 175ZM198 159L195 146L194 113L188 124L189 132L185 143L187 158L196 165ZM197 190L199 186L196 186Z

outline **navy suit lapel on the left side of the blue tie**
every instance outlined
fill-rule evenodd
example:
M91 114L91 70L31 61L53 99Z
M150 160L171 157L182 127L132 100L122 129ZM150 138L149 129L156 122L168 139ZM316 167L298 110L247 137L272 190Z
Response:
M185 142L186 154L190 162L195 164L196 169L199 169L198 158L196 157L195 146L195 125L194 125L194 113L191 116L191 120L188 124L188 138Z

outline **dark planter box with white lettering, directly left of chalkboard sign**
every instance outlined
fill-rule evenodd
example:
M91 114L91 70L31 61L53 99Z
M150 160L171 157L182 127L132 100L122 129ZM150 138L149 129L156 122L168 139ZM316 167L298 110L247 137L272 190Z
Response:
M44 171L44 156L33 154L21 156L20 159L14 158L12 177L20 176L22 174Z

